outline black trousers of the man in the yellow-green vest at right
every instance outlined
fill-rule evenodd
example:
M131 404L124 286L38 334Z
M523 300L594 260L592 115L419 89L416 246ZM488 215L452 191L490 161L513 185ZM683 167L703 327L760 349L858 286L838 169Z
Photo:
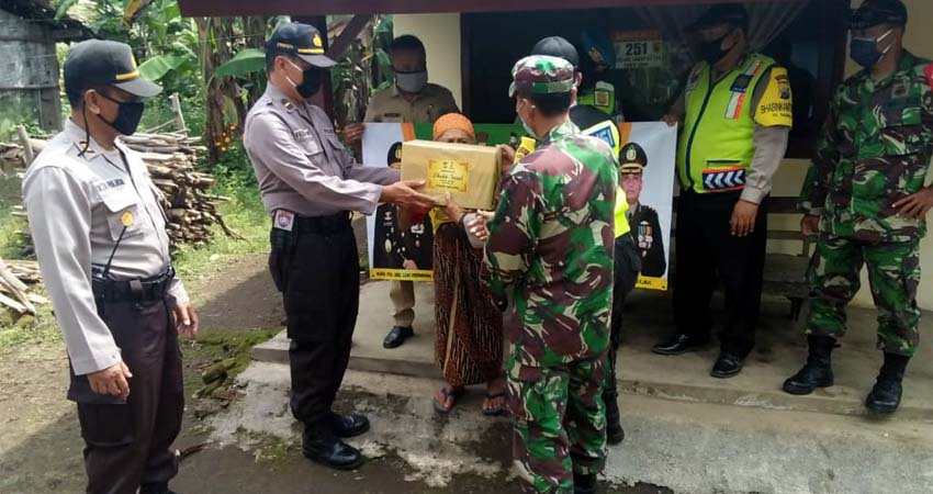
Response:
M767 198L758 206L755 231L731 234L729 222L741 192L683 192L677 203L677 266L674 321L677 330L708 339L712 329L710 299L719 282L726 292L722 351L745 357L755 346L767 247Z

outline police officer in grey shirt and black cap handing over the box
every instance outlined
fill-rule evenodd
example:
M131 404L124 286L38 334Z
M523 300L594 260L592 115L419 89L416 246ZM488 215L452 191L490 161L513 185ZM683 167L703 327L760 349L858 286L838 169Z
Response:
M344 148L324 111L310 102L334 60L311 25L279 26L266 46L269 86L246 117L244 144L273 217L269 271L282 292L291 338L291 408L304 423L302 450L319 463L353 469L345 444L369 420L331 406L350 356L360 265L351 212L380 203L428 209L434 200L400 182L398 170L364 167Z

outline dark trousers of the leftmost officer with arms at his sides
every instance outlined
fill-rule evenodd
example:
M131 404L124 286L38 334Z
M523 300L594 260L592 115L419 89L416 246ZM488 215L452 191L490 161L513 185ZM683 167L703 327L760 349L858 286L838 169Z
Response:
M164 493L178 473L170 449L181 430L184 388L181 350L165 301L99 302L133 377L130 397L91 391L87 377L71 372L68 398L78 404L85 438L88 494Z

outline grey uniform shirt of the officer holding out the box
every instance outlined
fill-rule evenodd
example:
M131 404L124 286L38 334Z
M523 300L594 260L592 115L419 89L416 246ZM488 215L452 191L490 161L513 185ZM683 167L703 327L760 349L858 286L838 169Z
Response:
M271 83L246 116L244 145L269 213L372 214L382 186L398 181L398 170L357 164L323 110L292 103Z

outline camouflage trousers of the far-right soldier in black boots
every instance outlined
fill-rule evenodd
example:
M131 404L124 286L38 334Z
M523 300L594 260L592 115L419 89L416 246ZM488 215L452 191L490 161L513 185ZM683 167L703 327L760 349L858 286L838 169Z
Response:
M878 310L878 348L913 356L920 340L919 240L869 244L822 235L807 273L810 283L807 334L835 338L845 334L845 305L861 288L863 265L868 267L868 282Z

